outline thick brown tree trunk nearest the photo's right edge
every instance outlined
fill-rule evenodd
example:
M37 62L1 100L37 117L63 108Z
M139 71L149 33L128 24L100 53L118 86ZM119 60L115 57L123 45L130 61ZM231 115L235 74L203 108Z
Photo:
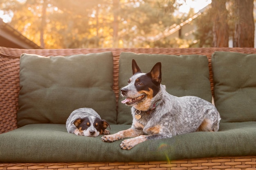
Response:
M254 0L234 0L234 47L254 47Z

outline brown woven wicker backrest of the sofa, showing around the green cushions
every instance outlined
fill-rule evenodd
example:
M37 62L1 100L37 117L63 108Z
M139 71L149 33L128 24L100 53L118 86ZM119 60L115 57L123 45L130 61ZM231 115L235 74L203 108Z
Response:
M210 81L213 91L213 76L211 71L211 55L214 51L235 51L240 53L256 53L254 48L168 48L168 49L11 49L0 47L0 134L17 128L16 115L18 111L19 93L19 62L22 53L38 54L43 56L74 55L86 53L99 53L112 51L114 60L114 84L113 89L116 98L119 97L118 71L119 56L121 52L207 55L209 59Z

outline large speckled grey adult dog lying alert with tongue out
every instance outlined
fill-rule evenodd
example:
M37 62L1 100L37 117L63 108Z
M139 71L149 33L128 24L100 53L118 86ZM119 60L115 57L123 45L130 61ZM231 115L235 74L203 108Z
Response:
M122 149L130 150L148 139L170 138L195 131L218 131L220 115L216 107L195 96L176 97L166 92L161 83L161 63L149 73L142 73L132 60L132 77L121 88L126 97L122 103L132 106L132 126L113 135L104 135L101 140L121 142Z

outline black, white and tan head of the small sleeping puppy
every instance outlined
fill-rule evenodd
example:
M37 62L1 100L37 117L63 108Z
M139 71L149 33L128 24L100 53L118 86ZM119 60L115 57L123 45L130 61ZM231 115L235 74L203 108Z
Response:
M101 120L95 116L75 119L71 122L83 136L97 137L102 135L104 130L109 126L106 120Z

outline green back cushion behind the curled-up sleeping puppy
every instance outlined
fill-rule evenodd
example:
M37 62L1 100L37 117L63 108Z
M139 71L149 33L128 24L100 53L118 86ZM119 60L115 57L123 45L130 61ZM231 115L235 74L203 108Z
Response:
M65 124L77 108L93 108L116 123L111 52L43 57L22 54L18 126Z

